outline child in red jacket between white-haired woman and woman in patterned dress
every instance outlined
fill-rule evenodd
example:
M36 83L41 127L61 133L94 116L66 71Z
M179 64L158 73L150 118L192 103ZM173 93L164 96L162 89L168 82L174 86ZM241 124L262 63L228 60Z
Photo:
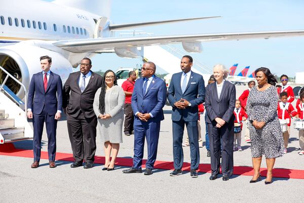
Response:
M241 101L239 99L236 100L236 107L233 113L235 115L234 122L241 124L241 131L234 133L234 150L242 151L242 147L241 147L241 140L242 140L241 137L242 137L242 128L243 128L242 121L245 121L248 118L248 116L243 110L243 108L241 108Z

